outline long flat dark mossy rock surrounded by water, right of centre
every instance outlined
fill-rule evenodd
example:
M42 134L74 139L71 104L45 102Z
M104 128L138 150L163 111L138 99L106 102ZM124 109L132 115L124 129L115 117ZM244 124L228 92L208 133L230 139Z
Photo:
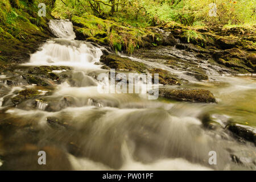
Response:
M216 102L213 94L204 89L159 89L159 96L176 101Z

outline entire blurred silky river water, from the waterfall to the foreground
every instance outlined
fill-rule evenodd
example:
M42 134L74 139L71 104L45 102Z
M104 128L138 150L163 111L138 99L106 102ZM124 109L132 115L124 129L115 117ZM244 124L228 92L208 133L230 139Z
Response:
M16 126L5 125L7 138L0 133L0 166L4 169L256 170L255 146L237 142L224 129L230 118L255 129L255 77L220 75L213 67L209 68L209 81L200 82L178 69L130 57L192 80L181 87L210 90L218 103L101 94L96 77L106 70L97 63L105 48L75 40L71 22L51 20L49 27L58 38L44 43L22 67L72 67L73 82L56 84L49 96L43 97L42 92L35 109L29 109L29 103L7 109L2 105L5 97L23 89L20 85L0 98L0 109L5 110L0 112L0 122ZM201 67L208 69L207 63L201 63ZM1 75L0 80L3 78ZM59 98L72 100L73 105L59 104ZM49 102L56 102L52 110L47 110ZM212 114L222 127L204 129L200 117L205 113ZM46 166L38 164L40 150L46 151ZM216 165L209 164L210 151L217 154ZM232 156L243 164L234 162Z

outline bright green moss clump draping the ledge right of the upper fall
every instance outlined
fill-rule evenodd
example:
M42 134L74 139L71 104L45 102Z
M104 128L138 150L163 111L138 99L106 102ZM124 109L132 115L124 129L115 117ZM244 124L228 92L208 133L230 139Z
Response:
M72 22L78 39L105 44L115 51L125 50L128 53L143 47L142 38L152 34L146 29L125 27L112 20L100 19L93 15L72 16Z

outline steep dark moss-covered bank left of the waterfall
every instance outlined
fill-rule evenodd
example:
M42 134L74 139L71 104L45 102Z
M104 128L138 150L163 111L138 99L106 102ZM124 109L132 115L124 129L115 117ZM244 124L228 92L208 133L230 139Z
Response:
M1 0L0 64L22 63L43 40L52 36L47 21L54 0ZM45 3L46 17L38 15L39 3Z

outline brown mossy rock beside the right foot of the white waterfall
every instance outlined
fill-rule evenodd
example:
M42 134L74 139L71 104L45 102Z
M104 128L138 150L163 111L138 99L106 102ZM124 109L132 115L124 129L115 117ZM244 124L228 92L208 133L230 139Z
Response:
M101 63L108 65L108 67L118 69L119 71L133 71L139 73L146 72L146 66L143 63L132 61L127 57L110 54L107 56L101 56L100 61Z

